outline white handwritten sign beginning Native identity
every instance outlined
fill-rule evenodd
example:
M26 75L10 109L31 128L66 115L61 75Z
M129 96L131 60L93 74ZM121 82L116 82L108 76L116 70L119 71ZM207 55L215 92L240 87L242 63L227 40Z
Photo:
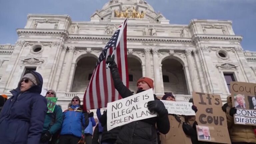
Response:
M164 103L165 108L169 114L177 115L196 115L195 111L192 110L193 103L190 102L176 102L161 100Z

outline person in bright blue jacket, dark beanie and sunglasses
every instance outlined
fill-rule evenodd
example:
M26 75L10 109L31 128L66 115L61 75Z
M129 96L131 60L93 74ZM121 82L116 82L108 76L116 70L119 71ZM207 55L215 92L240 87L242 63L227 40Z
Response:
M77 144L82 140L83 128L89 124L88 113L80 107L80 99L74 96L71 106L63 112L63 124L60 132L60 144Z

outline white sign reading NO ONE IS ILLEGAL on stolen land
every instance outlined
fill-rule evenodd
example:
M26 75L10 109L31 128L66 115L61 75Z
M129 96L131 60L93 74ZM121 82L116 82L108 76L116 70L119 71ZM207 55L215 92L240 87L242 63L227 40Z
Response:
M108 131L133 121L156 117L150 112L147 104L154 100L153 89L129 96L107 104Z

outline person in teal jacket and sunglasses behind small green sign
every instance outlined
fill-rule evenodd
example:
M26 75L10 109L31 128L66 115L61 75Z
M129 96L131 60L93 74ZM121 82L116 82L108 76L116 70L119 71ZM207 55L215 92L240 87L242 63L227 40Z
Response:
M56 97L54 90L48 90L46 98ZM43 133L40 139L40 144L55 144L57 143L58 133L62 127L63 114L62 109L55 105L53 113L47 113L44 120ZM50 141L51 139L51 141Z

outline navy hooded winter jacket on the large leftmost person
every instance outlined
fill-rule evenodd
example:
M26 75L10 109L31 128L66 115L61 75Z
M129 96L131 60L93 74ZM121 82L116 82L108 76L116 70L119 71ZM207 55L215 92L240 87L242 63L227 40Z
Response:
M10 91L12 97L3 106L0 113L1 144L38 144L47 112L47 101L40 95L43 85L42 76L32 71L37 86L20 92L20 83Z

